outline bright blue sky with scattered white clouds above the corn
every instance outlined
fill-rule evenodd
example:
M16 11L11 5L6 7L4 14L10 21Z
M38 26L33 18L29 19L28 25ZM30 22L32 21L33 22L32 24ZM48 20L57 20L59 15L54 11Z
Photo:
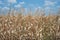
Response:
M56 11L60 7L60 0L0 0L0 9L8 10L10 6L14 9L24 7L25 9L41 8Z

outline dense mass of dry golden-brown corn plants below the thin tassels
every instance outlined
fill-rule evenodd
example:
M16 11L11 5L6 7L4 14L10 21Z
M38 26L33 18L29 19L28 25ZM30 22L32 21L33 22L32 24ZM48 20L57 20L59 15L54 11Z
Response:
M57 16L0 16L0 40L56 40L59 27Z

